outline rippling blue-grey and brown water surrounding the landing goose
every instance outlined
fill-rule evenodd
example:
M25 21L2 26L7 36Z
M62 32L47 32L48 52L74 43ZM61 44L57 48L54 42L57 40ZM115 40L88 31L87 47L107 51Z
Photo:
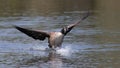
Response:
M105 8L101 3L96 8L93 0L0 0L0 68L119 68L117 10L108 13L111 2ZM47 39L34 40L12 27L60 31L93 9L101 13L75 27L56 52L46 50Z

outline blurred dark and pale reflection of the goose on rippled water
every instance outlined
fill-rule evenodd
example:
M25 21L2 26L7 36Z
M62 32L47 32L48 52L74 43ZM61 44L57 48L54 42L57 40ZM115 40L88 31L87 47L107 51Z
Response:
M29 67L29 66L35 66L39 68L62 68L62 58L59 54L56 54L55 52L48 52L47 56L33 56L30 58L24 58L19 63L17 63L17 66L21 67Z

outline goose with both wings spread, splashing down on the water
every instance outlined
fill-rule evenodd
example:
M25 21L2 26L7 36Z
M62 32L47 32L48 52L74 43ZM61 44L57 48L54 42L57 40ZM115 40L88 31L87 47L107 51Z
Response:
M35 40L43 41L43 40L45 40L45 38L48 38L48 43L49 43L48 46L50 48L54 49L56 47L61 47L64 36L66 36L67 33L70 32L73 29L73 27L78 25L81 21L86 19L88 16L89 16L89 14L84 16L78 22L75 22L75 23L70 24L70 25L68 25L66 27L63 27L60 32L50 32L50 33L48 33L48 32L42 31L42 30L26 29L26 28L23 28L23 27L15 26L15 25L14 25L14 27L16 29L18 29L19 31L25 33L26 35L32 37Z

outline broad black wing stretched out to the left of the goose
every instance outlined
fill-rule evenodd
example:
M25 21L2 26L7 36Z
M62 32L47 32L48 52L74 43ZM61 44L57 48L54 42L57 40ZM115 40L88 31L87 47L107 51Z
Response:
M46 37L49 37L49 34L47 32L43 32L43 31L37 31L37 30L32 30L32 29L26 29L26 28L22 28L19 26L14 26L16 29L18 29L19 31L25 33L26 35L32 37L35 40L45 40Z

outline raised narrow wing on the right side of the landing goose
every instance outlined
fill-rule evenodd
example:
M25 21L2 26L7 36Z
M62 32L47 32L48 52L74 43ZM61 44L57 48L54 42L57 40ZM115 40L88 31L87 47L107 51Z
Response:
M75 23L73 23L73 24L70 24L70 25L68 25L68 26L66 26L66 27L63 27L63 29L61 30L61 32L62 32L64 35L66 35L67 33L69 33L69 32L73 29L73 27L75 27L75 26L78 25L80 22L82 22L83 20L85 20L88 16L89 16L89 13L87 13L81 20L79 20L79 21L77 21L77 22L75 22Z

